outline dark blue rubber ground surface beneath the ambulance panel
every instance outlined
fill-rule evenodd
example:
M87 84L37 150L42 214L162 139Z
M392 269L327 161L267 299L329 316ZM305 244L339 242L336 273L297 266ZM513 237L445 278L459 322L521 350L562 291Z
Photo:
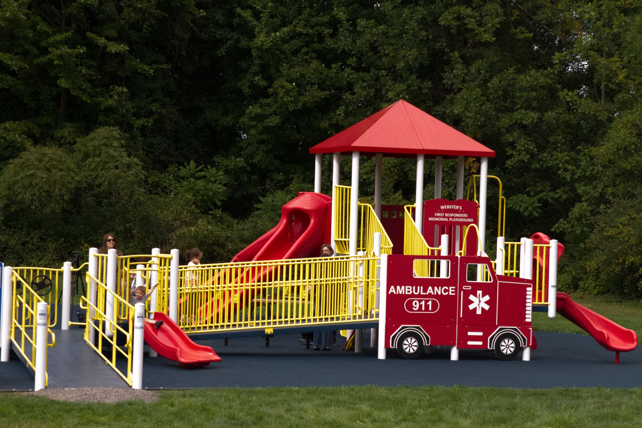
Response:
M573 388L642 386L642 352L621 353L600 347L590 336L537 332L539 348L531 361L501 361L492 351L460 350L450 361L450 350L437 349L406 360L396 350L387 359L376 358L364 334L363 353L343 351L345 339L330 352L309 350L299 334L274 336L270 347L263 338L198 341L220 355L220 363L184 369L162 357L144 358L143 388L256 388L268 386L494 386L498 388Z

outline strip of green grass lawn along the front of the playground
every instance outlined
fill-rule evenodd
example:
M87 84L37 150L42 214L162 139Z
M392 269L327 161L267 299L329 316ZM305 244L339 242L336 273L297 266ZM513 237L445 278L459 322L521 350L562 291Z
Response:
M198 389L152 404L0 393L2 427L628 427L642 388Z

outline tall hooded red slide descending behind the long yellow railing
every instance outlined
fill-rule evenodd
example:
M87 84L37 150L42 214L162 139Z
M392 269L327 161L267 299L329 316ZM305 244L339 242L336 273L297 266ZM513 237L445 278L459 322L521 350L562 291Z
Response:
M299 196L283 205L281 220L269 232L239 252L232 262L265 260L286 260L313 257L318 255L321 245L330 242L330 219L332 198L322 193L299 192ZM261 280L272 269L266 268L250 282ZM244 291L245 300L250 302L254 296ZM225 305L232 305L232 296L223 296L217 307L213 298L199 311L215 316Z

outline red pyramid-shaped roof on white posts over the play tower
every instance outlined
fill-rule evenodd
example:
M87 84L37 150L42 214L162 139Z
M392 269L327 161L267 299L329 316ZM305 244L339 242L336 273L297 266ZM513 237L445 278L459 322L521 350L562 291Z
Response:
M495 152L400 99L310 149L310 153L360 151L428 157L487 156Z

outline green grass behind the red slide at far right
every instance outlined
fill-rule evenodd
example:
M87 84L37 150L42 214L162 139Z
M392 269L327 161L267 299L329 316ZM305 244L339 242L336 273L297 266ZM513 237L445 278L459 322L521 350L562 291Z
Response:
M591 311L598 312L598 314L609 318L609 320L620 324L622 327L634 330L638 337L642 337L642 302L639 300L627 302L613 298L579 294L569 296L578 304L586 306ZM546 312L535 312L533 314L533 327L535 330L540 331L587 334L587 332L560 314L557 314L553 320L549 320Z

